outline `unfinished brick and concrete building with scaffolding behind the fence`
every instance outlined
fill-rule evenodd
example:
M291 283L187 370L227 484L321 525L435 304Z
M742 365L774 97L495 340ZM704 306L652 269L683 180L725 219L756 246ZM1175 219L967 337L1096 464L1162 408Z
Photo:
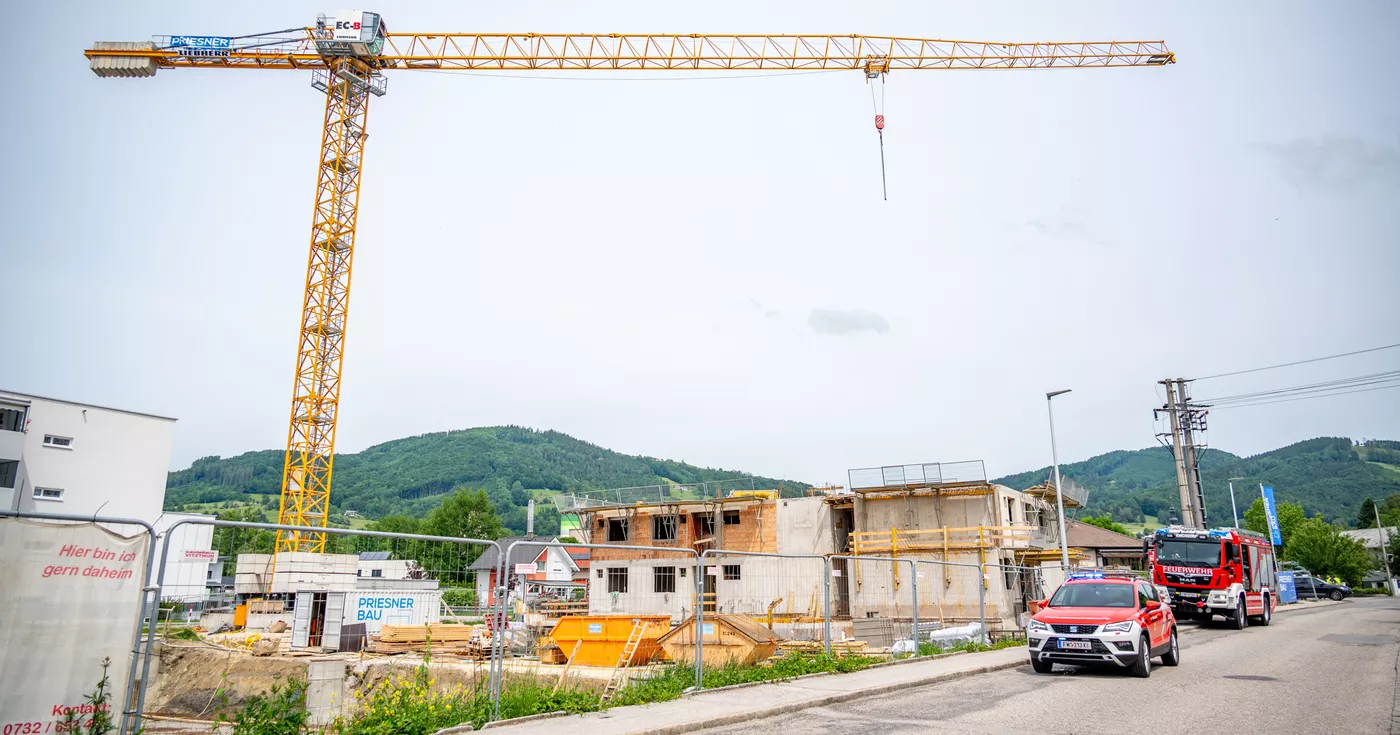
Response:
M834 620L909 620L917 587L920 620L952 626L984 613L994 629L1019 629L1026 602L1058 584L1053 484L1025 491L993 484L981 462L855 469L848 482L848 489L806 497L675 486L559 496L556 503L578 517L580 540L650 547L594 550L594 615L687 617L696 606L692 550L710 552L706 613L770 620L823 616L827 561ZM1064 505L1081 507L1082 490L1064 484ZM911 560L944 564L914 571ZM1056 570L1043 570L1049 564Z

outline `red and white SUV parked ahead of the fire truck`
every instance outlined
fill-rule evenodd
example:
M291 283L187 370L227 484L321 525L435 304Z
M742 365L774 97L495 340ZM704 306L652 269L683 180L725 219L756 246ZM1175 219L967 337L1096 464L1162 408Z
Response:
M1056 664L1114 664L1145 678L1152 657L1168 666L1182 659L1172 606L1137 577L1075 573L1040 606L1026 630L1036 673Z

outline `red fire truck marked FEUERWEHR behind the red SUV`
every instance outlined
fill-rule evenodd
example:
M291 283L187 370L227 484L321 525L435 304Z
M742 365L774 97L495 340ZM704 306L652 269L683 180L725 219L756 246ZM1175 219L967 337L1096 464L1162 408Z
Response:
M1278 605L1278 573L1268 539L1238 528L1159 528L1145 542L1152 582L1170 592L1182 620L1225 616L1236 630L1267 626Z

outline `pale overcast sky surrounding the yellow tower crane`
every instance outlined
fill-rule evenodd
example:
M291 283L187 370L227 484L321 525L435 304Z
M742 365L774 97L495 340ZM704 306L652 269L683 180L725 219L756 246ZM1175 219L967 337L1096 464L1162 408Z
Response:
M321 134L301 71L99 80L91 42L301 1L22 3L0 386L280 448ZM489 424L806 482L1155 444L1156 381L1400 342L1394 3L403 3L393 31L1165 39L1166 69L392 73L370 111L340 451ZM550 76L559 76L553 73ZM1400 350L1200 384L1394 370ZM1400 391L1211 414L1252 454L1400 438Z

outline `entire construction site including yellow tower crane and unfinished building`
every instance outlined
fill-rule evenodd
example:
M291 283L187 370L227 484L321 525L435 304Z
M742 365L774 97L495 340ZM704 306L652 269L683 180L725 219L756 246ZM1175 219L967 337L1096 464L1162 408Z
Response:
M871 91L871 144L878 139L888 199L889 74L1168 67L1176 59L1163 42L405 34L356 10L272 32L104 41L84 55L104 80L293 71L325 101L276 522L175 524L216 539L213 549L181 552L185 559L210 578L232 577L227 605L207 605L179 627L161 615L169 538L161 545L151 532L147 585L132 601L134 652L112 669L123 735L146 722L206 722L288 678L305 682L309 722L325 725L363 715L351 703L431 665L421 686L486 692L484 721L500 717L521 680L594 690L608 703L634 680L689 666L703 686L714 668L987 647L1025 633L1036 601L1068 573L1065 561L1089 561L1061 538L1061 514L1084 507L1082 489L1058 477L994 484L980 461L851 469L844 486L799 493L752 480L736 489L736 479L731 487L553 494L573 536L536 536L533 515L524 536L505 539L332 528L368 108L388 92L389 76L413 71L846 70ZM273 533L273 553L242 552L235 532Z

